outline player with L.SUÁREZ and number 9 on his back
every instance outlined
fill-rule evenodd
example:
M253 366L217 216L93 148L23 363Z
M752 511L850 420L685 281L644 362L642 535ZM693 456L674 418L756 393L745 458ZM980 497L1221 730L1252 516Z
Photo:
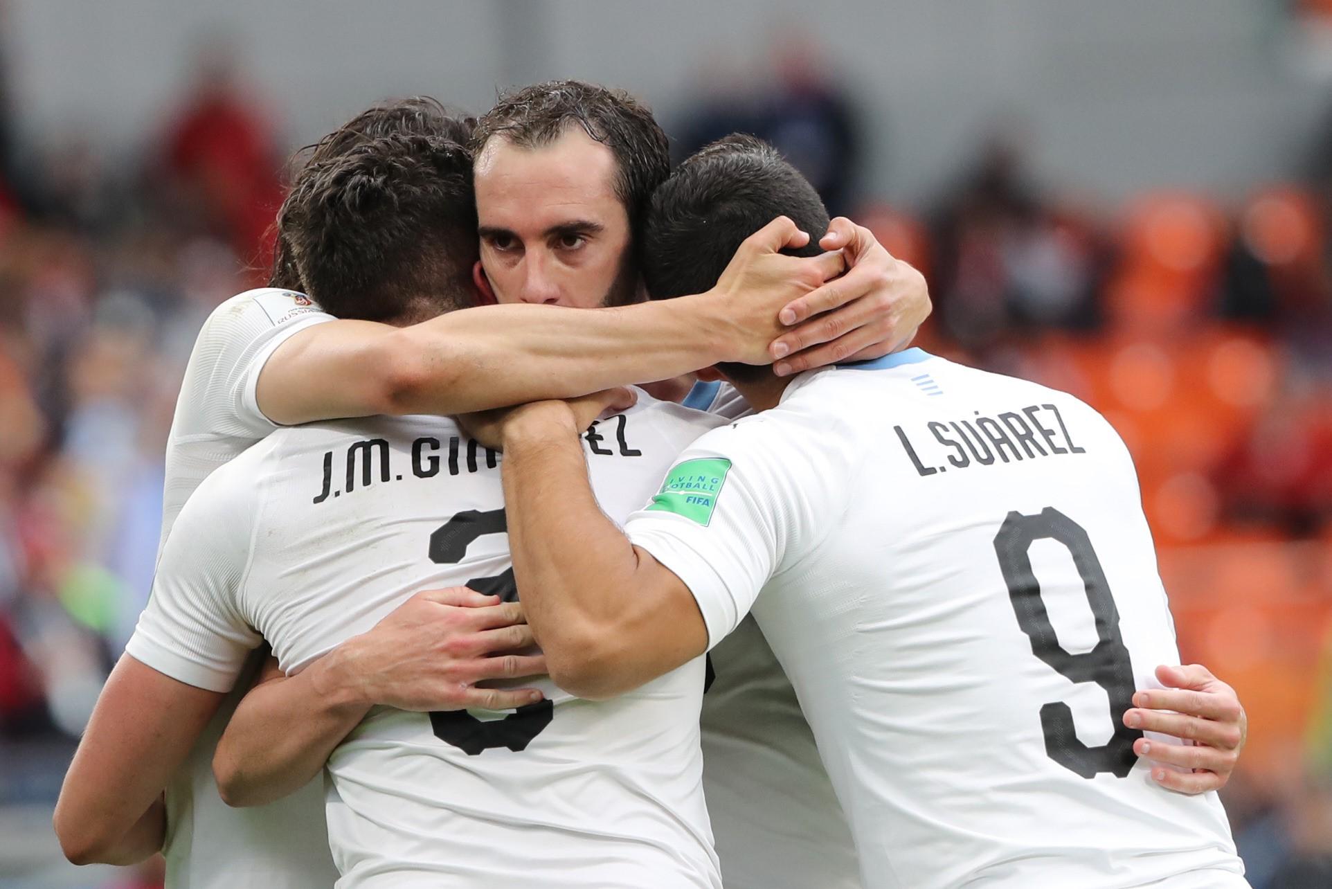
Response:
M653 199L649 289L710 280L779 212L827 224L771 148L703 149ZM1247 886L1215 793L1163 793L1138 756L1223 753L1134 728L1135 692L1177 652L1134 465L1100 415L918 349L794 380L717 372L759 413L694 443L623 530L587 492L563 404L477 424L505 450L515 577L561 688L650 682L753 610L866 886Z

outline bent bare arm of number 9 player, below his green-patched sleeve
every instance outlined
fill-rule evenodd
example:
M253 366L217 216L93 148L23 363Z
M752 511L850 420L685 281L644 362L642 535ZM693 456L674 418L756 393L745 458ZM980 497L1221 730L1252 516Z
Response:
M579 425L563 403L515 409L502 432L503 490L514 576L550 677L597 700L698 657L707 628L685 584L597 506Z

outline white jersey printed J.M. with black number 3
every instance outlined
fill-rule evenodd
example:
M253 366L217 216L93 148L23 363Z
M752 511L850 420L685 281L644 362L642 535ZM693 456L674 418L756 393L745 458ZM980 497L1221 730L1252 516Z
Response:
M586 436L626 517L717 419L646 395ZM449 420L282 429L216 470L163 552L129 652L228 689L261 637L297 672L421 589L513 594L498 454ZM703 658L613 701L374 708L328 762L340 886L721 886L702 793ZM523 681L526 684L527 681Z

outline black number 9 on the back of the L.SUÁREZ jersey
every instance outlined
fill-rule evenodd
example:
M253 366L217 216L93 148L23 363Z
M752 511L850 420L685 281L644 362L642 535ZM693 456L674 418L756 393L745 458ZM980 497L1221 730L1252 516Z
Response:
M1072 554L1096 618L1096 646L1083 654L1070 654L1059 644L1040 597L1040 581L1031 569L1031 545L1044 538L1063 544ZM1074 714L1067 704L1054 701L1043 705L1040 728L1046 734L1046 753L1084 778L1098 772L1127 777L1138 761L1134 741L1143 736L1124 725L1124 712L1134 705L1134 668L1119 632L1119 609L1087 532L1052 506L1046 506L1036 516L1010 512L995 536L995 554L999 556L1018 625L1031 638L1031 653L1072 682L1095 682L1110 697L1110 721L1115 733L1100 746L1088 746L1078 740Z

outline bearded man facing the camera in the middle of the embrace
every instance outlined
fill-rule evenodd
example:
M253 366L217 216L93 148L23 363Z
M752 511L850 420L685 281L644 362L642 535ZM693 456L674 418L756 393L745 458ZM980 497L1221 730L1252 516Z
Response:
M478 121L473 144L485 272L480 284L501 303L586 307L627 299L618 288L625 265L635 272L641 265L647 208L647 193L634 185L643 177L633 165L657 157L658 168L666 168L665 135L646 109L590 84L538 84L501 97ZM723 248L691 243L671 259L690 267L714 256L713 249ZM916 273L895 264L892 275ZM599 293L606 296L587 301ZM797 304L791 320L806 317L810 301L817 300ZM818 352L827 361L868 357L846 345L843 340ZM777 373L813 367L803 355L778 360ZM687 392L685 404L731 419L749 411L730 385L710 380L689 389L691 381L677 383L674 392L653 392L675 399ZM703 698L703 780L727 886L856 885L850 833L813 734L754 621L743 621L713 649L710 661L715 678ZM1235 721L1228 728L1239 730L1243 712L1228 686L1200 668L1167 668L1163 676L1207 692L1199 698L1172 693L1172 704L1192 712L1195 702L1204 702L1207 716L1224 712ZM1164 713L1134 716L1166 732L1195 728ZM1191 776L1189 782L1166 772L1162 781L1191 792L1220 786L1233 765L1233 748L1217 744L1219 757L1225 757L1213 762L1217 772Z

